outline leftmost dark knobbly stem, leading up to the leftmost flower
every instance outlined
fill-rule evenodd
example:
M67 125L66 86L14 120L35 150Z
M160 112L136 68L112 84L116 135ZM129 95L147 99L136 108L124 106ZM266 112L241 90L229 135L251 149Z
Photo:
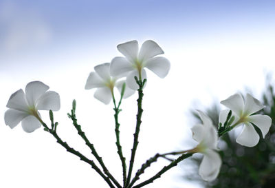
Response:
M96 166L96 164L94 163L93 160L89 160L89 158L87 158L86 156L83 156L83 154L81 154L80 152L76 151L74 148L69 147L69 145L66 142L64 142L63 140L61 140L61 138L58 136L58 134L56 133L56 131L54 129L50 129L49 127L47 127L47 125L41 120L41 118L39 118L39 121L41 122L41 124L45 128L45 131L47 131L50 134L52 134L52 136L54 136L54 138L56 138L56 142L58 144L62 145L63 147L65 147L65 149L67 149L67 152L72 153L72 154L78 156L80 158L80 160L83 160L84 162L86 162L89 165L91 165L91 167L93 169L95 169L96 172L98 172L98 174L107 182L107 184L111 188L115 188L113 186L113 184L111 183L111 181L109 180L109 178L107 176L104 176L104 174L102 173L102 171Z

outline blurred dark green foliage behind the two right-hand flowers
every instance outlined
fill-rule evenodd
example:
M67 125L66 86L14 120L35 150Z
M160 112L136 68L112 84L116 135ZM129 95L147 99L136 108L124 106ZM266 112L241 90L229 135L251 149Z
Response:
M263 138L259 129L256 131L261 136L259 144L255 147L243 147L236 143L234 130L230 134L223 135L219 142L222 143L219 152L223 160L220 174L217 180L205 182L199 178L197 171L184 176L188 180L200 182L203 187L232 188L273 188L275 187L275 94L274 86L267 84L260 100L265 108L259 114L266 114L272 118L270 132ZM209 109L204 110L214 125L219 124L219 104L215 103ZM200 121L197 112L192 115ZM198 169L200 158L192 158L191 163Z

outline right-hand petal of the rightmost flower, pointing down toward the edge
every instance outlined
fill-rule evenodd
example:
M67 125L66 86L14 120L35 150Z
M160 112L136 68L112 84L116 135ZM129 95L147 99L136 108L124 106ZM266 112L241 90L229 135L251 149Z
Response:
M249 116L248 118L249 118L248 121L250 121L251 123L254 123L257 127L259 127L259 129L261 129L263 138L265 138L265 135L270 130L271 123L272 123L272 119L270 118L270 116L257 114L257 115Z

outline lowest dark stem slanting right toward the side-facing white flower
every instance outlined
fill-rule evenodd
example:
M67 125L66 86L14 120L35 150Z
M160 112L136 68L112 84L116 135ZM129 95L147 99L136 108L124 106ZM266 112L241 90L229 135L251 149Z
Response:
M159 172L157 172L157 174L155 174L155 176L149 178L148 180L145 180L144 182L141 182L138 185L135 185L133 188L143 187L144 185L152 183L155 179L160 178L160 176L162 176L162 174L164 174L166 171L177 166L177 164L181 162L181 160L184 160L190 156L192 156L192 154L182 154L181 156L179 156L179 158L173 160L170 165L163 167Z

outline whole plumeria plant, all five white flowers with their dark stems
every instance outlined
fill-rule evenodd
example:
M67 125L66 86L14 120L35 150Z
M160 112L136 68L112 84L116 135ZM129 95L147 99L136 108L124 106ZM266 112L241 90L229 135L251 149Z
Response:
M154 41L145 41L139 49L137 41L129 41L119 44L117 46L118 51L121 52L124 57L117 56L111 60L111 63L102 63L94 67L94 71L91 72L87 78L85 90L96 88L94 97L104 104L109 104L113 99L115 110L115 134L116 145L118 147L118 155L122 161L123 169L123 187L131 188L135 181L139 179L139 176L144 173L147 167L150 167L151 163L157 161L158 157L163 157L168 160L172 160L170 165L165 166L152 178L140 183L136 187L143 187L148 183L153 182L156 178L159 178L165 171L171 167L175 167L177 163L185 158L192 156L192 154L203 154L201 165L199 166L199 175L203 180L212 181L217 178L219 170L221 168L222 160L219 156L218 140L219 136L229 132L234 127L243 125L243 130L237 136L236 143L244 145L246 147L253 147L259 143L260 136L254 129L254 126L261 130L263 138L269 132L272 124L270 116L255 114L263 109L263 105L256 98L250 94L246 95L245 100L241 94L234 94L229 98L221 101L221 104L225 105L229 109L225 109L220 112L219 125L213 125L211 119L198 110L201 123L193 126L192 138L197 141L197 146L193 149L184 150L181 152L170 152L166 154L156 154L153 158L150 158L142 165L142 168L137 171L135 177L131 179L131 173L133 170L133 163L135 158L135 152L138 144L138 134L140 132L140 125L142 123L142 97L143 88L146 83L146 71L144 68L151 70L160 78L164 78L170 70L170 62L168 59L158 56L164 54L162 48ZM120 102L118 105L115 103L114 88L117 88L120 92ZM91 167L96 169L98 174L104 178L110 187L114 187L113 184L119 188L122 186L117 180L109 173L109 170L104 165L102 158L98 156L94 145L89 142L85 136L85 132L82 131L81 126L78 125L76 119L76 101L73 103L71 114L68 114L72 119L74 127L78 130L78 134L85 140L86 145L91 149L91 153L95 156L102 167L102 171L96 166L94 161L89 160L80 152L77 152L72 147L69 147L67 143L63 142L56 133L56 126L58 123L54 123L54 117L52 111L57 111L61 107L60 97L58 93L48 91L49 86L40 81L33 81L26 85L25 92L18 90L10 96L7 107L9 108L5 112L5 124L14 128L20 122L25 132L34 132L43 125L47 132L52 134L57 142L61 144L68 152L78 156L81 160L85 161ZM137 99L137 123L135 128L133 149L131 149L131 160L129 161L129 171L126 174L125 157L122 154L122 146L120 145L120 123L118 123L118 114L120 112L120 103L122 98L128 98L138 90ZM47 127L43 122L39 110L49 110L50 120L52 123L52 129ZM218 129L217 129L218 127ZM167 158L167 155L179 155L176 159ZM104 174L103 174L104 173Z

